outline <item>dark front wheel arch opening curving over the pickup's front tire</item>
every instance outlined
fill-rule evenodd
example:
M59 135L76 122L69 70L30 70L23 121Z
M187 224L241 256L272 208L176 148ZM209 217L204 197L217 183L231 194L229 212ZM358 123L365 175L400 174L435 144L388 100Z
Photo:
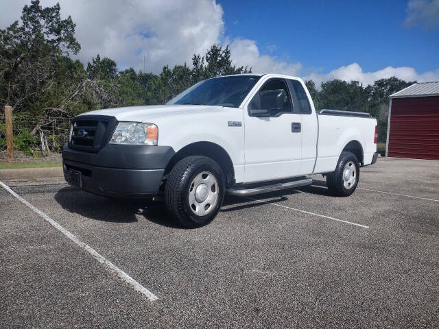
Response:
M226 175L226 187L235 183L235 170L233 169L232 159L223 147L212 142L195 142L179 149L169 160L164 175L171 172L176 163L187 156L207 156L215 160Z

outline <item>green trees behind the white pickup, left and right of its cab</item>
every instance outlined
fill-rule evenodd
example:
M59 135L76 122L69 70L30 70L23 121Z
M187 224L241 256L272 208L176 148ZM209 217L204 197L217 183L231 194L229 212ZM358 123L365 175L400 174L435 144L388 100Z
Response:
M212 45L204 55L194 54L192 65L164 66L161 73L117 69L117 63L97 54L86 66L72 55L80 52L71 17L61 19L60 5L43 8L39 0L23 8L19 21L0 29L0 105L14 115L40 118L73 117L99 108L163 104L189 86L221 75L251 73L235 66L228 46ZM388 97L409 86L396 77L359 82L332 80L319 88L307 87L316 108L369 112L379 121L379 140L385 141ZM34 135L39 125L30 131Z

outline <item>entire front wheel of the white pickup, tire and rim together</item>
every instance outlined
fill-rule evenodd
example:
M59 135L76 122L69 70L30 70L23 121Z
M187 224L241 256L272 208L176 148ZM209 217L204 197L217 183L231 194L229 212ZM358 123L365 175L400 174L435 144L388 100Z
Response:
M206 156L188 156L169 173L165 204L182 226L198 228L216 217L224 193L224 175L217 162Z

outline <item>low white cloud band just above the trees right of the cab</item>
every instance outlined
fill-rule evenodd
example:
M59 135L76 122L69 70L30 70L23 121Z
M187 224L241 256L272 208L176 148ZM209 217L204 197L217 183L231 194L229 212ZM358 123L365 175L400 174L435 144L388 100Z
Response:
M321 82L339 79L345 80L347 82L359 81L364 86L368 84L373 84L376 80L387 78L387 77L398 77L405 81L418 81L418 82L430 82L439 81L439 69L436 71L430 71L426 73L419 74L412 67L402 66L402 67L392 67L388 66L385 69L381 69L375 72L364 72L361 66L357 63L349 64L347 66L341 66L326 74L311 73L303 77L304 80L313 80L316 82L317 86L320 86Z

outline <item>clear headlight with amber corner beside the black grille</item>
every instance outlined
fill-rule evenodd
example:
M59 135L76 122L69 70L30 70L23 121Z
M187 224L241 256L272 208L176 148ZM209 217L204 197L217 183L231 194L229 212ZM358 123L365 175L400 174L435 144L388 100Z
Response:
M157 145L158 128L152 123L119 122L110 144Z

